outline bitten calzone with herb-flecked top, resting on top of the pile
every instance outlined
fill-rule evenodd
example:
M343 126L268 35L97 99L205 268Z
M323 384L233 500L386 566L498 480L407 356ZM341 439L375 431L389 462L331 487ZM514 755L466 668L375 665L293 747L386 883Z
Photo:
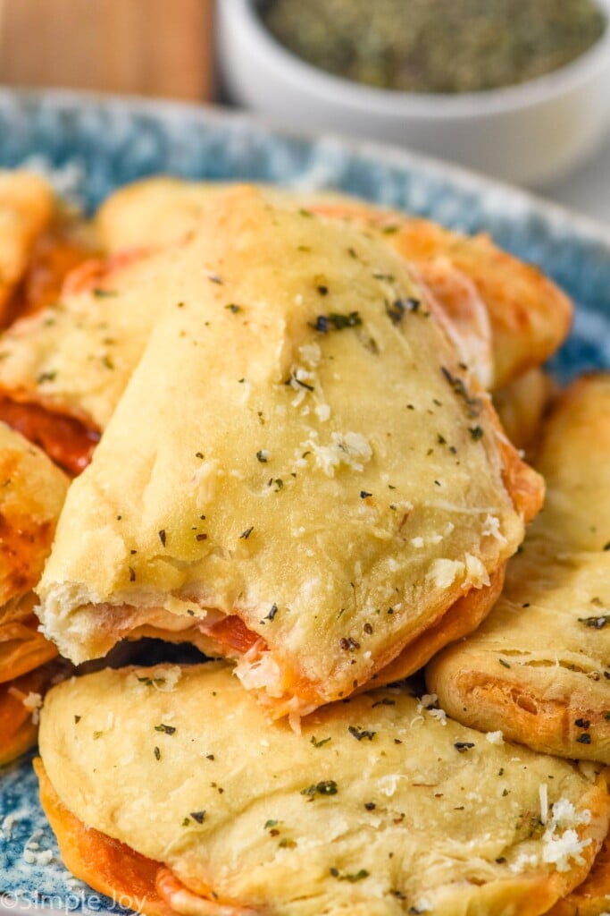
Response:
M70 488L40 615L71 660L188 639L305 714L476 627L540 496L401 257L238 189Z

